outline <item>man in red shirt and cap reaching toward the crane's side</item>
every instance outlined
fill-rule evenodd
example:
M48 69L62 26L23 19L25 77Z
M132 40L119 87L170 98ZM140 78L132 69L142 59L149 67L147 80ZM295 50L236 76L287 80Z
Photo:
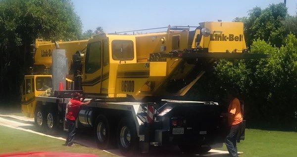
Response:
M66 139L65 145L72 146L73 140L75 136L75 120L78 116L80 106L81 105L88 105L91 101L88 102L81 102L81 96L78 92L75 92L72 94L72 98L70 99L68 105L67 105L67 125L68 125L68 137Z

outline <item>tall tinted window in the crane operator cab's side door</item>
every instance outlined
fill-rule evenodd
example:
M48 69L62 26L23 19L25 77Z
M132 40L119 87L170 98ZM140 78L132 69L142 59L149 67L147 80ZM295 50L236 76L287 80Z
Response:
M92 74L101 68L101 42L88 44L85 70L86 74Z

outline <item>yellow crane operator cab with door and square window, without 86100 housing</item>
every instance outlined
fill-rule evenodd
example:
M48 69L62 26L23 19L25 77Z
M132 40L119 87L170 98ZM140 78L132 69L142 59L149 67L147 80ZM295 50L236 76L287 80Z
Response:
M118 64L136 63L135 36L96 35L89 40L83 66L84 93L125 97L115 92Z

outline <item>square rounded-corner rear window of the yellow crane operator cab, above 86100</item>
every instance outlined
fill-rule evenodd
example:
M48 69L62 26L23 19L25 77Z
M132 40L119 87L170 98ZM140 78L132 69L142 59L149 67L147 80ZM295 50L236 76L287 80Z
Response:
M112 46L112 59L113 60L133 60L134 47L132 40L113 40Z

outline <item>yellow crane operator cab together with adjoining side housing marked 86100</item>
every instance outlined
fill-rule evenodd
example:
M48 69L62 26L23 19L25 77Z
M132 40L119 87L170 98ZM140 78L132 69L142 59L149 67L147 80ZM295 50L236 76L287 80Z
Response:
M90 39L81 83L84 93L104 98L131 95L136 99L152 95L151 90L157 89L154 83L166 77L167 64L140 60L136 45L134 35L101 34Z

